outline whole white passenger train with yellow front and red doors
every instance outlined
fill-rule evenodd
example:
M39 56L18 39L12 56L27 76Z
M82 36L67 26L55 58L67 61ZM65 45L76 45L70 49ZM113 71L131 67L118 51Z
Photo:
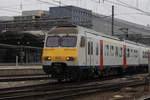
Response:
M42 66L58 81L148 70L150 47L81 26L58 26L45 36Z

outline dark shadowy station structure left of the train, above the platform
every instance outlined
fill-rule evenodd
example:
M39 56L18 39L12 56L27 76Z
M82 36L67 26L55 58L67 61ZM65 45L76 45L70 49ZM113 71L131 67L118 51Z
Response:
M0 33L0 65L40 64L42 32L7 31Z

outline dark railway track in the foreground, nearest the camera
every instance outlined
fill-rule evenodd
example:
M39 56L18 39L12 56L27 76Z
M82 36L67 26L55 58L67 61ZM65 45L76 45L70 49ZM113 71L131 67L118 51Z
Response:
M82 94L118 90L123 87L140 86L143 84L144 80L138 78L89 83L51 83L32 88L0 90L0 100L60 100Z

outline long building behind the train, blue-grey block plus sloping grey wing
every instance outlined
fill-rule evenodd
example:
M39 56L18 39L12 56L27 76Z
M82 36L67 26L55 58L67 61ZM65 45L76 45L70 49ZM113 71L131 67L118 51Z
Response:
M68 18L69 22L91 28L95 31L112 35L112 18L92 12L91 10L61 6L50 7L49 18ZM126 38L135 42L150 44L150 28L121 19L114 19L114 36ZM144 38L144 41L143 41Z

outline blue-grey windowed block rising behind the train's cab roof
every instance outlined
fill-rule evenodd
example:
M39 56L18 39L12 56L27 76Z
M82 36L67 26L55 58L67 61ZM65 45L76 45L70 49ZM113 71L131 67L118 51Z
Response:
M67 18L72 24L82 25L89 28L92 25L92 11L74 6L50 7L49 18Z

